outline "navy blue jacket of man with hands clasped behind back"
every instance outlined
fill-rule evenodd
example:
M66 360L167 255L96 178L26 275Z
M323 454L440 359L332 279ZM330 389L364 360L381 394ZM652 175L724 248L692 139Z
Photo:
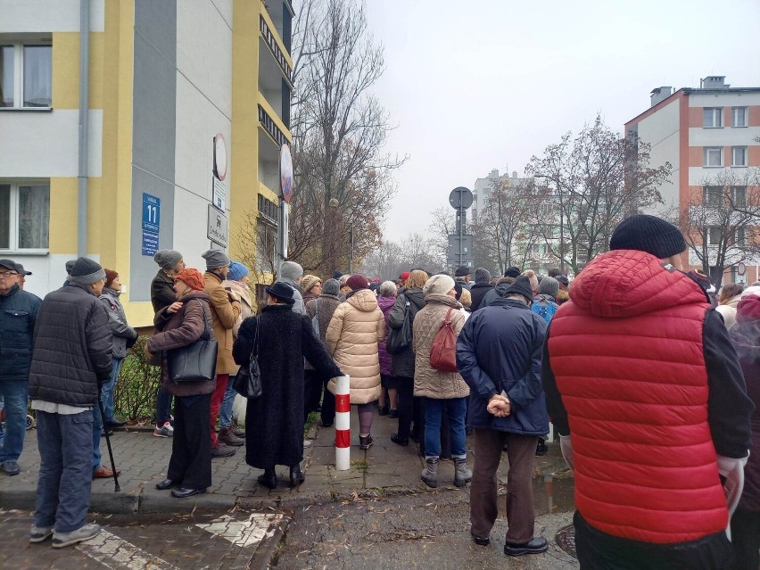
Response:
M457 368L470 387L467 425L513 434L549 433L541 386L546 323L522 302L498 298L475 311L459 333ZM511 413L486 410L493 394L507 392Z

